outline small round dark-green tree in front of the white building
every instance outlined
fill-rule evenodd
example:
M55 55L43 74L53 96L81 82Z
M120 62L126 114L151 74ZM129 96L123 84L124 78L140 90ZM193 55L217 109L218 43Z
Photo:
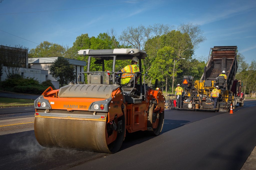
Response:
M54 63L49 66L50 74L55 79L60 79L61 87L65 81L73 81L76 79L74 66L65 58L58 57Z

